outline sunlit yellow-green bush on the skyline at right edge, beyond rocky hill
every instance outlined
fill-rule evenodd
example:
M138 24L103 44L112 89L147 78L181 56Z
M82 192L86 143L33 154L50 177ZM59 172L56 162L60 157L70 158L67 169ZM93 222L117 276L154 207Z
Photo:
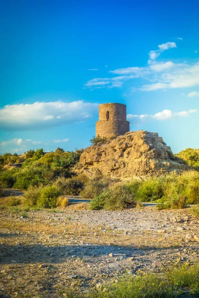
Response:
M199 149L187 148L180 151L176 156L184 159L188 165L199 169Z

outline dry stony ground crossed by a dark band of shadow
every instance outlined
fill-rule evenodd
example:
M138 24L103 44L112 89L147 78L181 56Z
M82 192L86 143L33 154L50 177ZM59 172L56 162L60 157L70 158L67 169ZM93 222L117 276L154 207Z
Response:
M67 297L124 273L199 260L190 208L0 211L0 297Z

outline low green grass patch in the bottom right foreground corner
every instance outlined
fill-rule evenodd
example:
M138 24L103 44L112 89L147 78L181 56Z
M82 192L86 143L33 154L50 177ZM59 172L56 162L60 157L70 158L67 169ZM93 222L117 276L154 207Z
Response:
M124 275L85 298L176 298L194 295L199 297L199 265L166 268L163 273L138 273L135 277ZM184 297L184 296L183 296Z

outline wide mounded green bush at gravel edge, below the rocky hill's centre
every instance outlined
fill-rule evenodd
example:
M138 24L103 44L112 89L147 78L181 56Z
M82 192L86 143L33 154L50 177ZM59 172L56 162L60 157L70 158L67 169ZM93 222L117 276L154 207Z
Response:
M126 185L115 184L92 200L91 210L122 210L135 207L136 202Z

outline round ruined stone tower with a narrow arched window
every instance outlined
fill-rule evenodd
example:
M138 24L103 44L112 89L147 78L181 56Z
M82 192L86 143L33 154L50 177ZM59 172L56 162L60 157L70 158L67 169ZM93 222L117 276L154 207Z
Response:
M129 132L126 121L126 105L103 103L99 106L99 121L96 122L96 137L117 137Z

